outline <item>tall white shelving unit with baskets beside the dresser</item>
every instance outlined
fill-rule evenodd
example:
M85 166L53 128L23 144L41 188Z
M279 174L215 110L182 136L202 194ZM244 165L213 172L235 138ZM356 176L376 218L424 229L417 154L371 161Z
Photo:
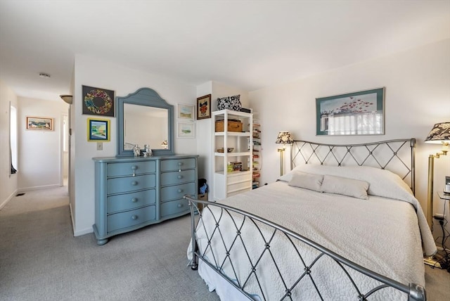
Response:
M223 132L216 132L217 121L224 122ZM238 122L242 123L242 129L234 132ZM252 113L232 110L212 113L213 200L221 200L252 189L252 132ZM221 148L224 149L223 153L218 151ZM233 148L233 151L227 152L228 148ZM234 168L229 169L229 165ZM235 170L238 167L240 170Z

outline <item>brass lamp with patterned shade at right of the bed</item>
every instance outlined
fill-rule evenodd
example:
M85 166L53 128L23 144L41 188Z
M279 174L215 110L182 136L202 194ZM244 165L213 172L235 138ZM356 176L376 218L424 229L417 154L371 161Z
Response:
M435 176L435 158L446 155L449 151L450 142L450 122L440 122L435 124L425 139L425 143L436 143L442 145L442 151L436 155L428 157L428 203L427 203L427 222L428 226L432 225L433 218L433 178ZM431 258L425 258L425 264L442 269L441 264Z

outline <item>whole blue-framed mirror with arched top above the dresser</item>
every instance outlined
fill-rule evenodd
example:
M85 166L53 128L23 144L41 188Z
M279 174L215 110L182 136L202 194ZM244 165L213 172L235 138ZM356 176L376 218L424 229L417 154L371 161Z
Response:
M153 155L174 155L174 106L155 90L141 88L117 97L117 157L133 156L148 144Z

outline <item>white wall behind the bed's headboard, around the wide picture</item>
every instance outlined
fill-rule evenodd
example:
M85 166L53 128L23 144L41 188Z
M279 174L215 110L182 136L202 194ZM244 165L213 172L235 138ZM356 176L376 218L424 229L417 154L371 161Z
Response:
M385 135L316 136L315 98L386 87ZM260 183L279 175L274 141L280 130L296 139L324 143L359 143L416 138L416 197L426 212L428 155L440 147L423 140L436 122L450 122L450 39L364 63L349 65L295 82L250 92L251 107L262 124L263 170ZM286 152L285 158L289 157ZM288 160L285 167L289 167ZM450 155L435 161L435 191L450 174ZM444 203L435 198L435 212ZM447 212L448 212L447 208Z

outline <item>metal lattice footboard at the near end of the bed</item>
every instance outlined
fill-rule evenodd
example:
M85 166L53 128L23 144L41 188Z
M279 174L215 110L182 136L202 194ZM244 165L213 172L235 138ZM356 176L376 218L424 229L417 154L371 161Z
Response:
M276 277L278 281L280 281L280 283L283 283L284 286L284 292L281 293L279 297L277 296L276 300L295 300L295 298L293 298L293 292L296 288L300 289L299 287L304 281L309 281L309 283L312 283L316 296L318 296L319 300L326 300L326 298L323 297L323 293L321 293L319 286L317 285L317 281L313 273L316 266L318 266L317 263L319 261L323 262L324 258L329 258L332 262L335 263L335 267L342 269L342 274L347 277L347 283L351 283L350 287L352 291L350 293L352 294L352 296L354 295L354 297L352 297L352 300L375 300L374 298L375 295L379 293L378 291L392 289L398 290L400 293L402 292L401 294L405 296L405 300L426 300L425 288L423 288L423 286L414 283L405 285L403 283L399 283L398 281L394 281L383 275L375 273L374 271L361 267L359 264L347 260L345 257L342 257L335 252L324 248L322 245L319 245L318 243L305 238L299 233L295 233L293 231L290 231L289 229L285 229L283 226L275 224L274 222L270 222L267 219L221 203L195 200L190 196L185 196L184 198L188 200L188 203L191 207L191 248L193 251L191 269L198 269L198 260L203 260L203 262L205 262L207 266L216 271L221 277L226 279L226 281L228 281L232 286L243 293L243 295L248 297L249 300L254 300L252 295L254 295L255 293L252 291L248 291L248 281L250 280L250 278L252 278L252 281L257 283L257 286L259 286L258 294L261 300L269 300L268 296L264 295L264 281L262 281L261 274L259 274L259 272L264 269L264 265L262 264L263 256L265 260L267 260L267 258L270 258L270 260L273 261L271 262L271 264L276 267L276 271L278 273ZM203 212L200 212L200 210L198 210L198 204L202 204L204 206ZM212 208L214 207L220 208L218 209L219 211L217 211L220 213L217 214L216 212L216 215L214 215L215 225L213 226L212 231L206 231L205 224L203 224L203 215L205 214L205 212L211 212ZM231 219L233 221L232 224L235 227L235 229L229 229L227 231L228 233L230 233L230 231L236 233L233 234L234 237L231 242L229 242L229 239L224 238L224 233L222 233L224 230L219 229L219 224L224 219L224 217L226 217L227 219ZM259 255L253 260L250 258L248 252L248 248L250 246L246 245L242 235L244 226L245 228L248 228L249 225L255 227L255 229L257 229L257 232L259 232L259 234L261 235L262 240L264 240L264 245L262 245L260 252L258 251ZM205 250L198 249L198 227L202 228L201 230L203 230L204 233L207 234L207 246ZM263 235L262 228L264 228L264 233L266 233L267 229L269 229L269 236ZM276 256L274 255L274 252L276 251L276 244L274 243L274 241L276 241L276 236L283 236L283 238L288 241L288 245L292 247L293 252L296 252L298 256L299 260L295 264L290 266L291 269L296 269L297 271L299 271L298 277L296 276L295 279L285 278L283 271L281 271L281 269L278 267L278 263L276 262L275 258ZM216 250L212 250L211 241L213 238L215 240L221 241L222 247L224 248L224 250L226 250L224 259L219 259L219 257L223 255L219 256ZM304 255L302 254L302 250L297 247L299 242L302 244L306 244L311 248L314 248L315 250L317 250L319 255L317 255L314 260L305 260ZM238 264L240 263L233 262L233 256L231 255L233 254L233 252L237 252L236 248L239 248L238 252L246 253L246 256L248 257L248 260L250 260L252 267L252 269L248 271L247 276L240 278L236 274L236 269L238 267ZM207 252L209 256L205 256ZM224 264L228 264L228 266L231 267L228 274L225 274L223 271ZM371 288L362 288L359 285L358 281L354 280L354 275L358 272L375 279L376 285ZM272 275L272 277L273 276L274 275Z

